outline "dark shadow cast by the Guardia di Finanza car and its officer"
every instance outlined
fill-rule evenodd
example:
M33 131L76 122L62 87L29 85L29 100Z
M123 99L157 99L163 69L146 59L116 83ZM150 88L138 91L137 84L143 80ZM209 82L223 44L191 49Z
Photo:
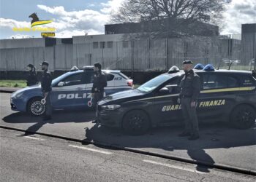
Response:
M206 149L229 149L239 146L253 146L256 144L256 128L249 130L236 130L227 124L200 124L200 139L189 141L187 138L178 137L181 126L159 127L151 130L146 135L124 135L121 130L94 125L86 129L85 141L98 141L110 145L155 151L161 154L179 152L181 157L187 155L197 162L208 162L214 165L214 159L206 153ZM145 149L146 148L146 149ZM160 149L160 150L159 150ZM178 154L178 156L180 156ZM232 158L231 158L232 159ZM197 165L197 170L208 173L209 168Z

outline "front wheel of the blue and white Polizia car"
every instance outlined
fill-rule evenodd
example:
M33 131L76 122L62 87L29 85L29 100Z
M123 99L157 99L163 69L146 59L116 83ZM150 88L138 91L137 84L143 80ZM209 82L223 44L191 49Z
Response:
M29 100L27 112L32 116L42 116L45 114L45 105L41 103L42 98L32 98Z

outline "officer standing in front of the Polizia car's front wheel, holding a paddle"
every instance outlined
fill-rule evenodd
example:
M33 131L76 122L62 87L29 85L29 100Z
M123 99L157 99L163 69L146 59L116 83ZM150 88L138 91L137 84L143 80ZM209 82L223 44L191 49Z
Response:
M50 92L51 92L51 82L52 78L50 75L50 71L48 71L49 63L46 61L43 61L41 64L42 66L42 81L41 81L41 90L42 95L45 98L45 116L43 120L50 120L51 114L52 114L52 106L51 106L51 100L50 100Z

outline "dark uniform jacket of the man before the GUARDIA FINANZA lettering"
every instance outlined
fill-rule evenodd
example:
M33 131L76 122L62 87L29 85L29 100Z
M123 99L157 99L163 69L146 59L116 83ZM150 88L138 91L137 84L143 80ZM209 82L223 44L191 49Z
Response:
M200 94L200 77L193 70L187 72L181 79L181 94L192 100L197 100Z

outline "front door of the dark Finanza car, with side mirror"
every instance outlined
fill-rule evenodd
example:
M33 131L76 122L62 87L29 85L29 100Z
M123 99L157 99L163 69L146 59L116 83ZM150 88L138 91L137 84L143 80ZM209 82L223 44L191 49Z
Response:
M182 119L181 105L177 102L181 77L176 76L170 79L154 95L154 119L158 121L158 124L170 124L170 122Z

